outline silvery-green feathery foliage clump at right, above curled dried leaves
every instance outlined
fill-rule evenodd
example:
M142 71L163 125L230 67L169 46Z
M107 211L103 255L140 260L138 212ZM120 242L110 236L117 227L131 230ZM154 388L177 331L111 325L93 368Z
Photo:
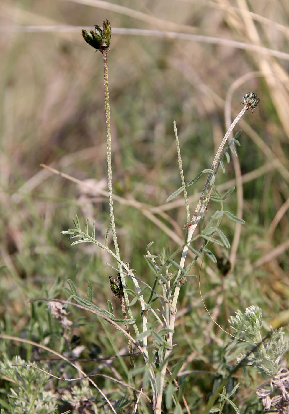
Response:
M249 355L242 354L237 359L238 363L244 359L246 365L254 366L260 374L266 377L277 375L282 368L280 360L289 350L289 341L284 338L282 328L273 331L270 338L263 342L261 335L262 310L258 306L249 306L245 313L238 309L235 314L230 317L229 324L236 335L259 344Z

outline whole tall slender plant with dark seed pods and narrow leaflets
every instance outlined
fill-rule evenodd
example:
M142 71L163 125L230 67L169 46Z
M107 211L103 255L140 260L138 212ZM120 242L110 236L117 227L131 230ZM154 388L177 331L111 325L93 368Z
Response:
M150 384L151 387L151 397L152 397L152 407L153 411L156 414L160 414L163 409L163 395L165 391L165 408L168 412L175 406L176 412L181 412L181 405L177 397L177 391L179 386L175 381L175 375L170 375L169 363L170 357L173 351L173 335L174 335L174 325L177 315L177 302L179 298L179 292L184 284L186 277L189 277L190 270L195 264L196 260L205 254L210 260L217 263L217 258L209 250L209 243L216 243L219 246L229 248L230 243L225 236L225 234L220 230L220 223L222 217L226 216L232 221L244 223L243 220L234 216L231 212L227 211L224 208L225 200L229 195L232 194L234 188L230 188L227 193L221 194L215 187L215 178L218 172L219 167L222 171L225 172L224 160L227 162L230 161L231 152L233 155L236 155L236 150L234 149L234 144L237 146L240 145L239 141L236 139L239 135L239 132L235 134L234 138L227 144L229 135L231 134L234 126L239 121L241 116L250 109L253 112L253 108L256 108L259 102L259 98L254 92L248 92L244 95L241 104L244 108L234 119L232 125L229 127L226 132L219 149L215 155L213 163L210 168L205 169L197 174L188 183L185 183L184 174L182 170L182 161L179 148L179 140L177 137L177 127L174 123L174 131L177 142L177 152L179 159L179 167L181 174L182 187L176 190L167 201L172 200L177 195L184 193L185 204L186 204L186 224L184 229L186 229L186 235L184 239L184 244L180 246L175 252L171 252L169 248L167 250L163 249L159 255L150 254L150 246L152 243L149 243L147 246L147 254L145 260L147 261L150 269L155 274L155 281L153 286L150 287L146 284L144 289L140 289L139 279L134 275L134 272L130 269L129 265L120 258L117 233L115 229L115 220L113 212L113 197L112 197L112 158L111 158L111 133L110 133L110 107L109 107L109 94L108 94L108 66L107 66L107 53L109 51L110 44L110 24L108 21L103 23L103 29L100 29L99 26L95 26L96 31L90 31L88 34L83 30L83 36L85 41L100 50L103 54L104 62L104 85L105 85L105 110L106 110L106 125L107 125L107 163L108 163L108 189L109 189L109 206L110 206L110 224L107 229L107 234L104 242L100 242L95 237L95 223L93 223L92 231L88 229L88 219L86 220L85 231L81 230L81 225L78 217L74 221L75 229L69 229L68 231L63 231L63 234L68 234L69 238L77 239L72 243L72 245L78 243L94 243L98 247L105 249L110 255L117 260L118 265L118 276L117 278L110 277L110 285L113 293L119 298L122 302L122 313L124 319L120 320L114 315L114 310L112 308L111 302L107 301L107 310L101 309L92 303L92 288L89 285L88 289L88 298L80 298L76 292L74 286L71 287L70 299L74 298L76 301L81 303L87 309L93 310L94 313L97 313L98 316L105 319L107 322L112 323L117 329L119 329L123 335L127 337L129 344L129 354L131 360L131 379L134 388L134 402L133 402L133 412L136 412L138 405L140 404L139 400L141 397L141 391L146 390L147 384ZM187 197L187 188L195 184L204 174L207 174L207 180L205 182L201 197L198 201L196 210L191 218L189 212L189 203ZM210 217L208 224L201 230L201 232L193 237L193 234L196 231L198 223L203 217L204 212L208 209L210 199L213 199L218 203L219 209ZM107 245L107 235L112 231L112 238L114 242L115 251L111 250ZM196 250L193 248L191 243L197 238L202 239L201 247ZM189 263L186 264L185 261L188 251L193 252L194 258ZM178 255L181 255L179 264L176 261ZM136 291L128 289L127 287L127 278L131 278L134 282ZM156 289L160 289L161 292L157 292ZM150 294L146 298L143 297L143 294L146 290L150 291ZM133 296L132 300L129 300L128 295ZM158 301L159 307L156 307L155 303ZM139 302L141 306L141 318L142 318L142 331L140 332L139 326L137 324L136 318L132 313L131 307L135 303ZM128 313L129 319L127 319L126 312ZM239 315L239 314L238 314ZM148 319L149 317L149 319ZM125 330L121 328L121 324L125 324ZM132 325L134 329L134 337L131 335L129 330L129 325ZM232 323L231 323L232 325ZM148 347L148 339L152 347ZM260 339L258 339L260 340ZM133 356L133 347L139 349L140 353L143 356L144 360L144 369L143 369L143 379L141 391L136 389L136 382L134 378L134 356ZM168 375L169 374L169 375ZM222 391L222 390L220 390ZM217 393L218 398L220 393ZM189 407L186 404L184 396L181 395L184 405L187 412L189 412ZM229 397L225 394L222 394L223 404L225 400L229 400ZM204 412L208 412L210 407L214 404L215 400L210 398L209 403L205 407ZM232 404L231 404L232 405ZM112 410L115 412L115 410Z

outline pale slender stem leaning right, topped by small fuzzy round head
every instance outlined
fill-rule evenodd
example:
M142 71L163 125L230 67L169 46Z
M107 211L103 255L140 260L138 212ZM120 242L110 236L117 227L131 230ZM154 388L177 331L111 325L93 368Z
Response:
M215 172L214 174L217 173L218 170L218 166L219 166L219 160L220 159L220 155L222 154L222 151L225 147L226 141L230 135L230 133L232 132L234 126L236 125L236 123L239 121L239 119L244 115L244 113L247 111L248 106L245 105L244 108L240 111L240 113L236 116L236 118L234 119L234 121L232 122L232 124L230 125L229 129L227 130L225 137L223 138L219 149L217 150L217 154L215 155L215 159L213 161L213 164L211 166L211 169ZM198 202L198 205L196 207L196 211L193 214L193 218L191 219L191 223L188 226L188 235L187 235L187 239L186 239L186 244L184 246L183 252L182 252L182 257L180 260L180 264L179 264L179 271L177 274L177 278L180 276L182 269L184 269L184 264L185 264L185 260L186 260L186 254L189 250L189 243L193 237L193 232L196 230L196 227L198 225L198 222L201 220L201 217L203 216L203 213L205 211L206 206L208 205L208 202L210 200L210 195L212 193L213 190L213 185L210 185L211 179L213 177L213 173L209 173L208 174L208 178L207 181L205 182L200 200ZM204 200L204 198L206 197L206 202ZM174 290L174 298L172 301L172 311L170 314L170 329L173 330L174 329L174 323L176 320L176 313L177 313L177 300L179 297L179 291L181 289L181 286L177 285L175 290ZM169 344L172 346L172 332L169 333L169 339L168 339ZM162 393L163 393L163 388L164 388L164 383L165 383L165 374L167 371L167 363L168 363L168 357L171 354L171 350L167 349L166 353L165 353L165 362L163 367L162 367L162 371L161 371L161 376L160 376L160 388L158 389L158 396L157 396L157 400L156 400L156 409L155 409L155 414L161 414L161 407L162 407Z

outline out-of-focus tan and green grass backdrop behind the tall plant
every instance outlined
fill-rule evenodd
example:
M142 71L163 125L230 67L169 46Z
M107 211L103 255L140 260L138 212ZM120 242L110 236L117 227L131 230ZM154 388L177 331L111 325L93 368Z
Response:
M247 111L237 125L243 130L239 158L231 161L225 174L220 171L216 180L223 190L233 185L232 180L237 183L237 195L235 192L227 200L225 208L243 217L246 224L235 226L224 219L222 230L231 244L234 241L234 268L222 279L217 267L206 261L202 289L209 310L224 327L227 312L232 314L250 305L262 308L268 325L274 319L278 325L278 315L282 315L286 326L287 0L85 3L27 0L3 1L0 5L2 333L44 341L63 351L57 321L51 320L45 304L32 309L28 300L38 296L66 299L62 286L69 278L84 295L91 281L98 306L106 307L107 298L113 301L108 277L116 275L106 262L116 263L96 246L70 248L69 241L60 234L72 226L72 218L78 214L83 224L87 217L90 222L96 220L98 238L103 241L110 223L107 197L39 166L51 165L96 188L107 189L103 60L84 42L81 30L72 27L92 28L104 19L112 28L192 35L190 40L160 39L112 31L108 59L113 183L114 193L123 199L115 202L122 260L136 269L137 277L152 284L154 276L143 259L147 244L154 241L150 251L158 254L163 247L177 248L184 238L182 195L165 204L168 195L181 185L173 120L177 122L188 182L198 171L210 167L229 119L240 111L242 96L255 91L260 97L259 106L253 114ZM120 8L115 10L112 4ZM22 25L60 25L66 29L31 32L21 30ZM213 39L196 41L193 35ZM227 43L216 44L214 39L226 39ZM246 45L234 41L255 49L247 50ZM278 56L275 51L283 54ZM188 188L191 214L202 188L201 181ZM214 208L217 205L210 202L205 221ZM198 270L197 266L193 273ZM71 313L73 320L85 315L74 309ZM93 323L93 329L82 325L84 319L73 327L73 334L86 346L82 357L89 356L92 343L100 347L102 356L115 354L107 341L108 328L90 315L85 318ZM113 330L111 335L118 349L126 346L123 337ZM184 357L184 370L214 373L227 340L205 313L196 279L189 278L179 301L174 358ZM11 356L20 353L25 358L35 357L22 345L13 344L7 352ZM103 369L111 373L112 368ZM200 381L200 376L194 374L190 381L201 395L212 386L208 375Z

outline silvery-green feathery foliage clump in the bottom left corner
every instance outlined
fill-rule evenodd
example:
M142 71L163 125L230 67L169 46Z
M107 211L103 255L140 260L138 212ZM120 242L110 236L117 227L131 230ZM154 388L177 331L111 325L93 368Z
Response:
M51 390L45 390L45 385L49 382L50 377L28 366L12 366L12 364L23 365L25 363L27 362L20 356L14 356L12 361L4 356L0 361L0 374L9 378L12 384L8 395L9 413L55 412L57 410L55 393ZM31 365L36 366L34 362ZM41 387L39 387L40 384ZM5 411L1 410L1 413L5 413Z

